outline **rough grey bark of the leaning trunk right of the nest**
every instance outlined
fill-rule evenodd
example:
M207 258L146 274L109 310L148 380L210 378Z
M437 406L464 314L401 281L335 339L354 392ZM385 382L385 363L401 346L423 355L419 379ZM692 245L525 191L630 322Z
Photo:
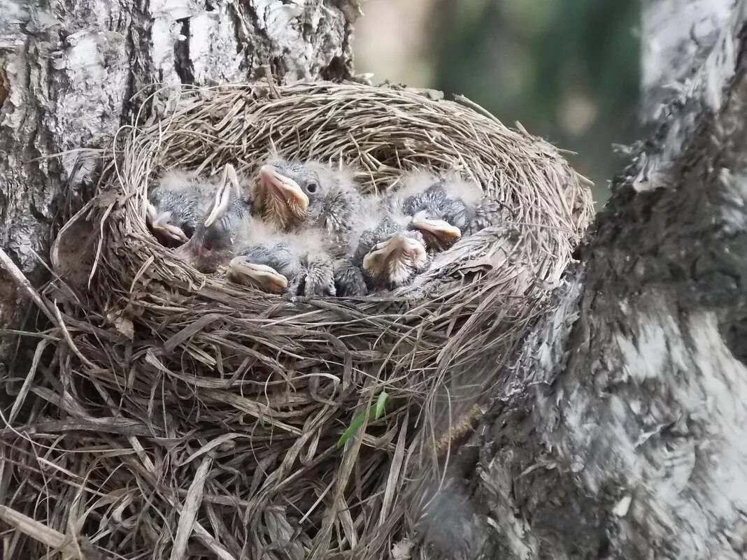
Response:
M747 10L696 4L719 27L672 43L700 66L660 72L684 81L461 450L475 512L446 556L747 555Z

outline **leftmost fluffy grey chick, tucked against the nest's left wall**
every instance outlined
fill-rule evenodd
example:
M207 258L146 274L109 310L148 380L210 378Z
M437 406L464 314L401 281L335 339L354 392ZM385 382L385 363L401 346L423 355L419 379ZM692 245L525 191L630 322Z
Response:
M146 222L162 243L184 243L210 208L216 185L181 170L167 172L149 193Z

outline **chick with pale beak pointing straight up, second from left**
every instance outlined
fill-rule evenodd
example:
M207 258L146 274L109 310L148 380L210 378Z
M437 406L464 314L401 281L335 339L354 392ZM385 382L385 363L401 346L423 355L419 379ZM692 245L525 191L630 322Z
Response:
M214 187L213 205L205 214L190 239L174 252L200 272L213 273L229 262L243 240L261 225L247 212L241 185L231 164L223 169L223 178L218 187Z

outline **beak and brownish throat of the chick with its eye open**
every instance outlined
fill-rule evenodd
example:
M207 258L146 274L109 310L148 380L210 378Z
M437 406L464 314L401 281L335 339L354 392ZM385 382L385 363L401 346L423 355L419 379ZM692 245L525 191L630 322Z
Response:
M309 197L293 179L282 175L276 167L263 165L259 169L261 211L283 228L302 217L309 208Z

